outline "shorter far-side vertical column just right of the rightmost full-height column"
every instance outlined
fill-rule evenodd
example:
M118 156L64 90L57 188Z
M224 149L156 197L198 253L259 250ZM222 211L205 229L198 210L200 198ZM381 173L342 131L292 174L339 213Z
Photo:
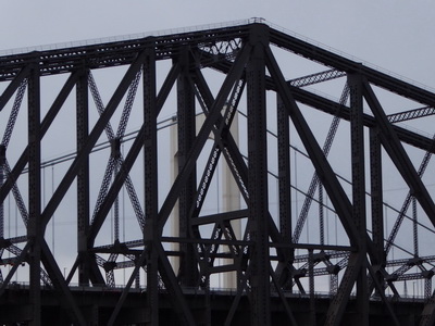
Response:
M382 154L381 140L377 128L370 129L370 180L371 180L371 199L372 199L372 239L373 247L376 251L376 261L372 264L385 267L386 254L384 251L384 210L383 210L383 186L382 186ZM383 285L383 276L380 268L376 273L377 281ZM381 290L383 290L382 288ZM380 289L376 289L378 292Z

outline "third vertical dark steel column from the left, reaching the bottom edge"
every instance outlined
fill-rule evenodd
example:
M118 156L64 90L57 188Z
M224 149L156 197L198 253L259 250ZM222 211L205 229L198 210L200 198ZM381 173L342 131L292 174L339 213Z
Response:
M147 50L144 62L144 168L145 168L145 233L147 255L147 325L159 325L159 277L158 253L154 243L158 235L158 153L157 153L157 106L156 106L156 53Z

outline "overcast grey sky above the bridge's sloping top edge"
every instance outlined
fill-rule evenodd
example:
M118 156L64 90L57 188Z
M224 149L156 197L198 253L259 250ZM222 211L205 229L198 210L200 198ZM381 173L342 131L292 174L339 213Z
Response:
M253 16L435 88L431 0L0 0L0 50Z

